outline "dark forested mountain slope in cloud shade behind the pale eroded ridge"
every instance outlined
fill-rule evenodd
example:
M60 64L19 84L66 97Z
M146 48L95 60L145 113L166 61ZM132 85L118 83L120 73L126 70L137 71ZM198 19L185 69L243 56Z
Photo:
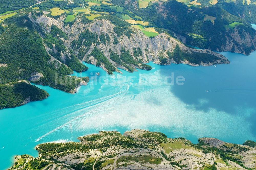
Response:
M173 37L192 46L246 55L256 49L256 32L250 24L219 5L198 8L173 0L152 1L146 8L139 8L135 0L112 3L167 29Z

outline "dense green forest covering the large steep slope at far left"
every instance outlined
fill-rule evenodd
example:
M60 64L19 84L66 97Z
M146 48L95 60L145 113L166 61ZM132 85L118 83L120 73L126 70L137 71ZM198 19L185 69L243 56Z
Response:
M56 60L49 62L51 57L46 53L42 39L39 34L35 32L27 13L17 14L14 17L8 18L5 20L5 23L8 25L8 29L1 27L2 31L0 34L0 63L7 64L7 67L0 68L0 81L2 84L15 82L20 79L28 80L31 74L39 72L43 77L34 81L35 83L49 85L50 87L66 92L70 92L78 86L81 79L74 76L67 76L72 73L70 68L83 71L86 70L87 67L81 64L72 54L70 59L67 60L67 64L70 68ZM53 35L56 34L55 32L56 29L53 29ZM59 36L61 36L61 34L59 34ZM24 86L24 88L27 87L29 86ZM7 85L3 85L2 88L11 90ZM35 90L35 92L33 92L33 90ZM14 92L15 91L10 95L12 96ZM31 94L37 94L38 88L30 88L26 94L29 92L31 92ZM2 90L1 93L1 98L6 100L9 94L4 93ZM8 100L6 100L6 102L1 101L1 108L20 105L21 101L24 100L24 98L19 96L13 96L10 100L14 99L17 99L16 103L12 101L9 102L8 105L6 105ZM40 97L31 98L31 100L40 99Z

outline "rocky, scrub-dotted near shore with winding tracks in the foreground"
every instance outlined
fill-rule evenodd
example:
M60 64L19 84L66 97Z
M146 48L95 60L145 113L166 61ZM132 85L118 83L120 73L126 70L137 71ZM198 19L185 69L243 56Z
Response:
M170 139L161 132L135 129L123 135L100 131L78 138L80 142L44 143L36 146L39 159L15 156L10 169L254 169L256 148L201 138ZM207 141L212 141L208 142ZM206 143L204 143L206 142ZM253 141L251 141L253 142ZM248 142L247 142L248 143ZM255 142L254 142L255 143Z

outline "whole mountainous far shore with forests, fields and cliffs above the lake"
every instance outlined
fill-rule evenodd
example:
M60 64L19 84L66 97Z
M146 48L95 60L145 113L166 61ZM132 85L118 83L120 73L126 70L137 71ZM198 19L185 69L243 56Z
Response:
M82 61L114 74L121 72L119 68L151 70L150 61L160 65L228 64L227 58L214 51L248 55L256 49L256 33L249 19L231 12L239 2L230 2L230 9L223 1L208 5L189 0L36 3L1 2L6 12L0 14L1 85L26 80L75 93L88 81L69 76L73 70L88 70ZM251 1L244 6L253 5ZM2 99L6 94L2 93Z

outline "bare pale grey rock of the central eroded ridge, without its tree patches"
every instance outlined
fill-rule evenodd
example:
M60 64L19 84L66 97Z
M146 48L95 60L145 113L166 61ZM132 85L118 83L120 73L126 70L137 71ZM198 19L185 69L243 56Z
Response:
M148 63L150 61L161 64L161 65L169 65L170 63L183 63L183 64L189 64L191 66L208 66L213 64L227 64L229 63L229 60L222 56L221 54L218 54L216 52L210 51L210 50L198 50L194 48L190 48L186 45L184 45L182 42L178 41L177 39L170 37L166 33L161 33L157 35L154 38L147 37L142 31L137 30L135 28L129 27L130 29L130 36L127 37L126 35L118 36L115 31L113 25L109 20L106 19L94 19L93 21L90 21L89 23L84 24L81 22L81 18L77 18L76 21L73 23L72 26L70 25L64 25L63 20L65 18L60 17L58 19L50 18L45 15L41 15L37 17L36 23L40 25L43 30L47 33L50 33L51 26L55 25L62 31L66 32L68 35L68 40L62 39L64 45L67 47L67 49L72 49L74 51L74 55L78 56L81 55L79 52L83 52L83 56L79 56L78 58L82 61L90 61L91 64L97 65L104 70L108 71L108 69L105 67L104 63L97 64L99 61L91 55L91 52L94 50L94 48L98 48L102 54L109 60L109 62L115 67L115 71L120 72L117 67L124 68L128 71L127 66L124 67L121 64L116 63L115 61L110 59L110 53L114 52L115 54L119 55L121 54L121 50L124 48L126 51L129 50L131 56L134 58L134 60L138 61L140 60L141 63ZM84 46L81 45L79 48L75 48L77 44L74 46L73 42L79 40L79 35L83 32L89 31L93 33L97 39L96 42L91 43L90 45ZM109 40L107 40L105 43L101 42L100 35L109 36ZM114 43L115 38L117 38L118 43ZM83 42L86 41L85 39ZM190 62L188 59L183 59L180 61L175 61L173 58L170 58L168 56L168 52L172 53L176 46L180 47L181 52L194 55L195 53L205 53L205 54L211 54L213 56L218 57L218 59L213 60L212 62L200 62L200 63L193 63ZM54 47L54 45L53 45ZM138 56L134 56L134 49L140 49L141 54ZM57 53L58 51L55 51L55 49L50 49ZM49 51L49 49L47 50ZM70 53L68 51L61 51L61 60L65 64L66 57L69 57ZM166 62L162 63L160 59L166 58ZM123 62L123 61L122 61ZM130 67L134 68L140 68L143 69L141 64L133 65L128 64Z

